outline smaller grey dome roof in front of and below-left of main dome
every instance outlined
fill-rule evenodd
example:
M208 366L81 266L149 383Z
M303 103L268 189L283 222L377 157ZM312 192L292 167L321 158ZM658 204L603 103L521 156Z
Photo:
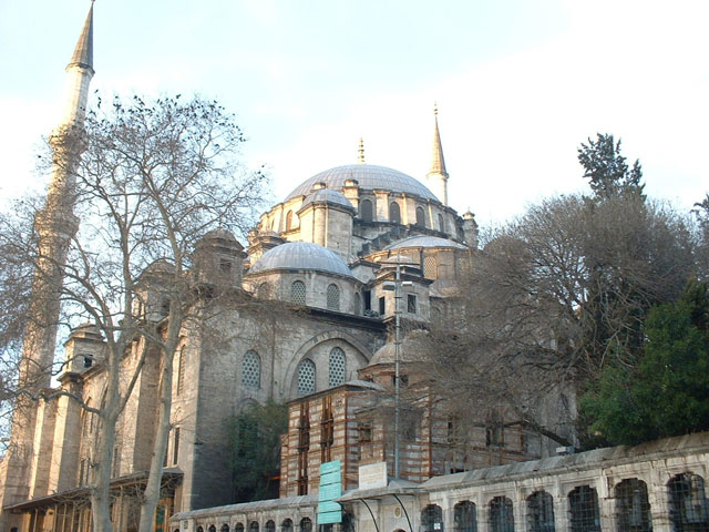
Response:
M309 242L287 242L267 250L254 263L249 274L275 269L310 269L326 274L352 276L350 268L337 253Z

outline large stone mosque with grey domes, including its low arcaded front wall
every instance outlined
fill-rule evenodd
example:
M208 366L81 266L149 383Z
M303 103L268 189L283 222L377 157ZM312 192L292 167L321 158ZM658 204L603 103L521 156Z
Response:
M93 8L68 66L70 122L79 121L86 106L92 32ZM442 531L444 522L472 531L477 530L475 508L481 516L489 508L484 530L506 531L523 520L524 501L536 504L527 508L538 513L538 523L548 524L551 512L552 528L528 530L554 530L554 510L566 522L563 509L571 504L573 514L576 503L585 512L578 519L590 524L571 530L600 530L593 526L602 518L612 519L613 510L607 511L610 503L604 499L599 513L597 491L610 498L608 490L627 478L633 482L623 489L633 500L638 487L646 484L643 478L657 484L633 450L587 460L553 457L549 442L534 440L535 434L513 419L500 429L507 431L506 437L497 428L482 427L480 433L466 434L472 452L458 452L452 421L421 383L425 360L417 358L415 347L417 337L425 334L435 313L444 311L456 280L480 253L473 214L461 216L448 204L449 178L434 115L431 166L424 181L368 164L360 141L357 163L305 178L261 215L246 247L223 231L205 235L195 255L195 278L209 283L210 275L218 275L254 305L224 303L208 324L192 324L184 331L176 355L156 530L292 532L299 526L310 532L314 524L332 530L337 523L341 530L379 532L378 522L387 523L387 530L412 530L413 520L424 532ZM408 334L401 332L399 342L395 334L402 323ZM220 331L218 340L205 335L205 328ZM42 364L53 359L53 348L50 352L37 346L52 345L41 339L52 334L34 331L30 342L37 349L30 356ZM89 405L96 405L104 386L101 368L91 364L102 349L103 339L91 326L75 329L65 344L71 362L59 377L60 387L80 393ZM130 356L125 364L132 364ZM137 497L150 467L157 418L158 368L158 358L146 361L119 421L112 471L117 531L137 530ZM386 415L394 385L420 386L419 416L401 421L405 429L395 460ZM289 409L288 432L281 440L280 499L234 505L225 466L225 420L250 402L269 400L287 402ZM13 427L13 451L0 468L3 530L90 530L86 495L93 479L95 420L66 398L22 416L22 423ZM690 443L686 456L674 454L662 466L682 490L706 475L707 438ZM661 452L654 449L644 457L656 459ZM628 466L636 462L639 473ZM349 510L341 520L325 524L318 518L322 502L318 493L326 491L323 464L333 463L340 475L336 483L345 490L339 501ZM573 467L582 471L580 480L569 473ZM605 487L592 480L608 477L600 471L604 467L616 468L615 480ZM476 471L464 472L471 470ZM362 471L374 471L380 480L383 474L383 483L374 481L367 491ZM681 497L690 495L682 491ZM377 518L368 505L372 503ZM667 507L661 504L654 511L664 512ZM641 523L649 519L649 505L644 511ZM664 519L653 516L656 522Z

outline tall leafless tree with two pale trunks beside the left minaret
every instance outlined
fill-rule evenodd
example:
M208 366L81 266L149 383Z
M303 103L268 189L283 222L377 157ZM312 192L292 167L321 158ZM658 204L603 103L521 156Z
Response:
M171 429L173 359L181 331L204 311L220 285L218 268L210 283L191 275L193 260L198 262L197 243L205 235L244 234L260 205L265 176L238 163L244 136L234 116L198 98L115 98L109 105L100 101L83 131L62 134L63 144L82 156L68 157L72 165L65 168L75 180L72 201L80 228L65 264L55 265L64 279L56 287L61 320L69 326L94 324L105 344L95 360L101 403L82 402L99 419L91 487L94 530L111 530L116 422L146 358L157 357L158 413L141 513L141 530L150 531ZM3 248L25 264L47 259L20 232L3 227L1 233ZM2 282L23 272L17 265ZM222 288L226 293L234 287L226 283ZM3 305L12 304L11 296L3 298ZM13 331L22 326L22 317L14 318L0 329L7 338L0 338L2 347L12 347ZM43 396L51 400L66 393L60 388ZM83 401L75 395L74 399Z

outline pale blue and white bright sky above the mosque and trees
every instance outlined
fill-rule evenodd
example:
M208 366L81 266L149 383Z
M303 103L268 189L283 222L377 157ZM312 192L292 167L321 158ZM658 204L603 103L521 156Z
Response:
M64 68L88 0L0 0L0 200L44 183ZM271 202L332 166L421 181L433 105L449 203L483 226L586 191L597 132L640 160L646 192L689 212L709 192L706 0L96 0L92 90L199 94L237 115Z

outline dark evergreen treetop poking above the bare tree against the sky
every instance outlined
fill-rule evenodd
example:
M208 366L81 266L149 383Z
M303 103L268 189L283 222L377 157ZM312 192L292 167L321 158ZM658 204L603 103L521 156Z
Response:
M643 194L645 185L640 183L640 162L636 161L630 168L626 157L620 155L620 141L615 142L613 135L598 133L596 141L588 139L588 144L578 149L578 162L596 198L607 200L624 193Z

